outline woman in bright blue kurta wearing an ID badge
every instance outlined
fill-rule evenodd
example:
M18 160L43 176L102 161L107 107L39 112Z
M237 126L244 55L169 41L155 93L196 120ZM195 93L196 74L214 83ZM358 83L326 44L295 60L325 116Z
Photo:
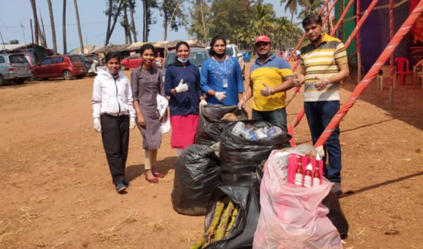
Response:
M213 37L210 55L201 68L201 89L208 96L209 104L238 105L244 92L242 72L238 61L225 54L226 41L222 36Z

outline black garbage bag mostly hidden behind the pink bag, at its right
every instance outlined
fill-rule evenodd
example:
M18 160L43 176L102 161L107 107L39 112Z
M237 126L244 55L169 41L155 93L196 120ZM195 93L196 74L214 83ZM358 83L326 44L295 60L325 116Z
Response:
M326 217L329 218L333 226L335 226L336 230L338 230L341 239L345 240L348 237L349 226L347 219L342 212L338 198L332 191L330 191L321 203L329 209L329 213Z

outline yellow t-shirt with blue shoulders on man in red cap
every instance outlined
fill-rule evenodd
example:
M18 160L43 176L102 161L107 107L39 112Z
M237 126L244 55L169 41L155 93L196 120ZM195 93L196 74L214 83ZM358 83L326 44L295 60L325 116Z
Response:
M263 64L257 59L250 68L250 80L253 83L253 109L256 111L274 111L285 107L286 92L265 97L260 91L264 89L263 83L268 87L276 87L288 78L294 77L288 62L276 55Z

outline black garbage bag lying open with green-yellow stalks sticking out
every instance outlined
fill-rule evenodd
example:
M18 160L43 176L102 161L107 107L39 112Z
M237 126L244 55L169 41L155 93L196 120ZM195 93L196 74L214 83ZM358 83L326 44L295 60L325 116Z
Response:
M218 199L228 196L239 205L239 213L228 237L210 244L207 249L250 249L253 245L254 233L260 213L260 198L257 185L250 187L220 186L213 195ZM216 200L218 200L216 199ZM214 206L209 208L205 227L213 220ZM207 229L206 229L207 230Z

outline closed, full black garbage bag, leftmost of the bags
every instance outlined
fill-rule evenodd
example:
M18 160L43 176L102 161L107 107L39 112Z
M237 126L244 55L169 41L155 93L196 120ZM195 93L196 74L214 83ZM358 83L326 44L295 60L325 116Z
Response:
M187 147L176 161L172 205L184 215L206 215L207 204L219 185L219 158L207 145Z

